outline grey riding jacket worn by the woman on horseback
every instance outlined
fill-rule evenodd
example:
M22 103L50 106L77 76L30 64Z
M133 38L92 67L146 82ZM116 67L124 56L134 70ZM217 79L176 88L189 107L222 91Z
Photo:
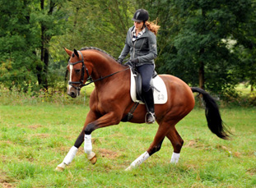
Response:
M130 53L130 60L138 59L136 66L155 64L154 59L157 56L156 35L146 27L145 33L133 42L133 29L134 26L128 30L119 59L123 60Z

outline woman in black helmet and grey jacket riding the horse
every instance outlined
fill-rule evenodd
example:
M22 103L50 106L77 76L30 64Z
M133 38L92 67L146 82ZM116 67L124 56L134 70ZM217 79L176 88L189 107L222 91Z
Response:
M148 12L138 9L134 16L133 27L129 28L119 63L130 53L130 60L125 64L136 66L142 76L142 95L147 108L147 123L155 122L153 89L150 81L155 70L154 59L157 56L156 34L160 26L148 22Z

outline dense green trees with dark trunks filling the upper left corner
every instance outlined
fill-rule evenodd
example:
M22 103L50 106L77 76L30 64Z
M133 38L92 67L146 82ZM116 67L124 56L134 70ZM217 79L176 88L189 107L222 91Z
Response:
M1 75L9 87L21 89L38 81L48 89L49 41L63 34L63 2L1 1Z

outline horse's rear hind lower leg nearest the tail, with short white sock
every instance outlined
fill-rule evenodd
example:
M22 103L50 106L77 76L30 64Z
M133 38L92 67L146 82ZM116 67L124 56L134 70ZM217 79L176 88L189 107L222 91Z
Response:
M170 140L171 144L174 147L174 152L171 156L170 163L178 163L179 154L184 143L184 140L180 137L178 131L175 129L175 126L170 127L166 137Z

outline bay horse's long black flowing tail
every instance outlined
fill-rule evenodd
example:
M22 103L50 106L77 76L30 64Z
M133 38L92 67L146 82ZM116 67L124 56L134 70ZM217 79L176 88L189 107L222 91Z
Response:
M205 116L207 117L207 123L212 133L216 134L221 139L227 140L229 135L227 134L226 127L221 119L219 108L210 94L200 88L191 88L193 92L202 94L202 99L205 103ZM230 133L230 132L229 132Z

